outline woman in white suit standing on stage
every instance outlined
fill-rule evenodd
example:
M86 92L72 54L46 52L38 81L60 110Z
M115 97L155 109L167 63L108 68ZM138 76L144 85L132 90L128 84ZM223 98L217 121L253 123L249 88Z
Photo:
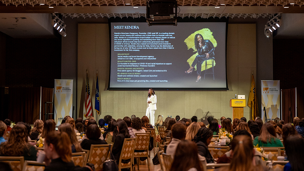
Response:
M150 123L152 126L154 126L154 113L156 110L156 95L154 93L154 90L151 88L149 89L149 93L148 93L148 99L147 99L147 103L148 103L148 107L147 107L147 111L146 111L146 116L149 118L150 115Z

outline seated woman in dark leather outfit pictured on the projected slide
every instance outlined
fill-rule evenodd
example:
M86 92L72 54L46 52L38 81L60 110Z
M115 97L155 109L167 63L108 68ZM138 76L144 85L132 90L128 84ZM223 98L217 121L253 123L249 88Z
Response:
M202 64L205 60L212 59L214 57L214 46L210 40L204 40L201 34L196 34L194 37L194 45L197 50L197 55L191 64L191 67L185 71L187 74L191 74L196 65L197 70L197 79L195 82L199 82L201 80L201 70Z

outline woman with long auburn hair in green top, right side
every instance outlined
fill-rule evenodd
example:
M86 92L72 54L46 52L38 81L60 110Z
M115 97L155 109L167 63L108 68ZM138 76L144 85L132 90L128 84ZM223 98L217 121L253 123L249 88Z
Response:
M253 145L259 144L260 147L284 147L281 140L275 137L275 128L269 122L266 122L261 129L260 136L253 140Z

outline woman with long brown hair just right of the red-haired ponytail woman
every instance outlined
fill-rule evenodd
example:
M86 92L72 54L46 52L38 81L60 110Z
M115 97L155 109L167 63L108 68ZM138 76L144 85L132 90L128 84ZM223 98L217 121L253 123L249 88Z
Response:
M60 133L65 132L66 134L68 134L69 138L70 138L70 142L72 144L72 153L78 153L81 152L81 147L80 144L76 138L76 133L74 131L74 128L72 127L71 124L69 123L63 123L60 124L58 126L58 130L60 131Z

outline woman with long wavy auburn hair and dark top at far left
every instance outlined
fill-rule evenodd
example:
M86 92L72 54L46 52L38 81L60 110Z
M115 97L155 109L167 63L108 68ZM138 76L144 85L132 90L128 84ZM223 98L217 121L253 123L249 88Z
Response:
M24 160L36 161L37 150L28 143L26 127L16 124L6 142L0 145L0 156L24 156Z

